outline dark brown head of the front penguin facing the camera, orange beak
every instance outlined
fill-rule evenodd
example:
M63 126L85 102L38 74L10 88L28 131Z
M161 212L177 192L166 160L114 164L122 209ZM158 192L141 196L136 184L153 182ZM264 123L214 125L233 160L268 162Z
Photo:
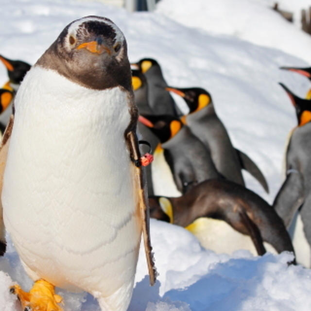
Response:
M125 37L105 17L88 16L71 22L36 65L56 70L88 88L123 86L132 90Z

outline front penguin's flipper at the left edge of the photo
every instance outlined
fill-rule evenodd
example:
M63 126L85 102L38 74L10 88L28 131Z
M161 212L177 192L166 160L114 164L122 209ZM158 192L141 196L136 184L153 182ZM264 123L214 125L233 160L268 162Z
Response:
M14 116L11 115L8 125L3 133L1 144L0 144L0 194L2 192L3 185L3 173L6 163L6 157L8 154L8 147L10 143L10 137L13 129ZM2 215L2 202L0 200L0 256L3 256L6 250L5 242L5 230L3 224L3 215Z

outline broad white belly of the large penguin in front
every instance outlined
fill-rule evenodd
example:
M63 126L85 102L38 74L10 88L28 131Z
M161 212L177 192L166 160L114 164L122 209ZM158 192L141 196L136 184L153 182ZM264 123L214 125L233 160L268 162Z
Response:
M108 296L133 282L141 233L123 136L126 94L49 74L37 86L27 75L17 93L4 222L33 277Z

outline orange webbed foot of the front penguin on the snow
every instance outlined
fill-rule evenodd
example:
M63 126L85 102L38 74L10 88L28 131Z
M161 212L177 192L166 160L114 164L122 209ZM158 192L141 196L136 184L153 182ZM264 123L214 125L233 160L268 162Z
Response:
M39 279L29 293L24 292L19 285L12 286L10 293L17 295L23 311L63 311L57 305L63 298L55 294L54 288L51 283Z

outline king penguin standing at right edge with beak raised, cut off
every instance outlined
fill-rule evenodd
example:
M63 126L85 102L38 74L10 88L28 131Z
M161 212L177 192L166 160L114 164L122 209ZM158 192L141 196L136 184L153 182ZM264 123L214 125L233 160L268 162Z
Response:
M296 110L298 126L291 132L286 150L286 179L278 191L273 207L285 226L295 226L293 244L297 261L311 266L311 101L297 97L285 85ZM293 223L295 214L296 221ZM301 227L303 226L303 232ZM297 230L300 227L300 230ZM292 228L291 228L292 229ZM296 239L300 235L299 239ZM297 241L299 240L299 241Z

